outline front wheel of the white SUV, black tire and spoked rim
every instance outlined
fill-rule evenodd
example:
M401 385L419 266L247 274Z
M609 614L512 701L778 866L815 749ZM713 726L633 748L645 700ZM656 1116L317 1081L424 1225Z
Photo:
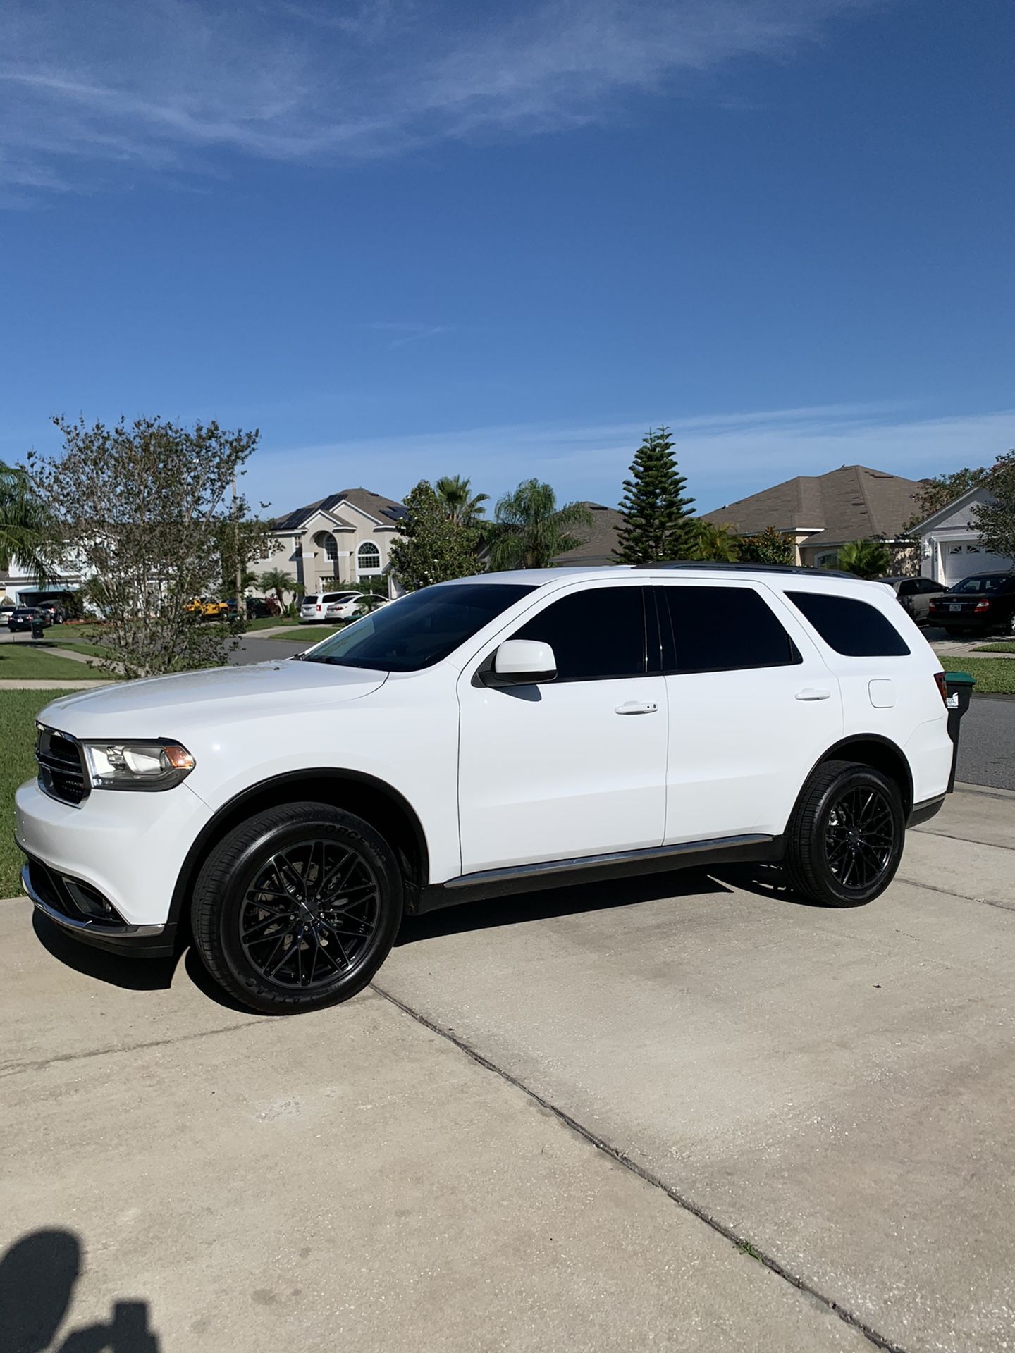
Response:
M284 804L214 847L191 916L223 990L254 1011L300 1013L345 1001L374 977L402 920L402 874L360 817Z

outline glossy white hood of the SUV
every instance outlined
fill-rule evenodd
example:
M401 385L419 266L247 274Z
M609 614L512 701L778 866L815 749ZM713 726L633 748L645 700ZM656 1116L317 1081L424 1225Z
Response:
M146 676L53 701L39 721L76 737L183 737L196 724L330 709L360 700L387 672L292 659Z

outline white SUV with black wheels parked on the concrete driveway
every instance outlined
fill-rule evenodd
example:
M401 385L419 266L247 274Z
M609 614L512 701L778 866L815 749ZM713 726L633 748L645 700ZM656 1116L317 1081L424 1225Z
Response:
M403 912L681 865L877 897L953 746L888 589L715 564L487 574L299 659L65 697L24 889L122 953L192 936L253 1009L360 990Z

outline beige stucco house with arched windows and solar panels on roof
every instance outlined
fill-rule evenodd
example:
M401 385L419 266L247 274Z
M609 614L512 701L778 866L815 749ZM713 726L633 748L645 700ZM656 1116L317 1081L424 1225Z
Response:
M281 568L299 593L329 591L380 576L405 507L369 488L344 488L276 517L277 548L250 564L250 572Z

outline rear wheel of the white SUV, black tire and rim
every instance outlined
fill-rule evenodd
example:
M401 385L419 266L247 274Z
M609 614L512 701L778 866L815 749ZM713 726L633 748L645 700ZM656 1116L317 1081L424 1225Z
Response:
M893 779L855 762L824 762L786 829L789 884L823 907L862 907L895 878L904 835L903 796Z

